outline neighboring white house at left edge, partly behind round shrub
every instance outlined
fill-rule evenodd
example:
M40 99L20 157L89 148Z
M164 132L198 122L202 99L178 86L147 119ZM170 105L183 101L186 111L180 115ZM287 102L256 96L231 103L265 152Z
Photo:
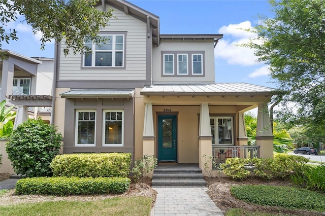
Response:
M54 59L26 57L9 50L0 50L6 58L0 59L0 101L15 105L16 128L27 118L41 117L50 122L52 112L52 86ZM6 141L0 141L3 164L0 172L14 174L5 150Z

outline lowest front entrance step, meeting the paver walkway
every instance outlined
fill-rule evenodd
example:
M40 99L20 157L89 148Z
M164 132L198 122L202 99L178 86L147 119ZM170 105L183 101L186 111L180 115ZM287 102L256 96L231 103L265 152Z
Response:
M152 179L153 187L204 187L206 182L204 179Z

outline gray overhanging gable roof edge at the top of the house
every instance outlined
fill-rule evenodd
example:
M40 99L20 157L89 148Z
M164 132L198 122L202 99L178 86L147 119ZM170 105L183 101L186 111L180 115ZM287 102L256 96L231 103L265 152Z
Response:
M136 5L133 5L124 0L102 0L98 4L101 4L103 10L106 11L106 3L120 11L123 11L125 14L136 17L139 20L147 23L147 32L152 33L152 42L153 44L159 46L159 17L142 9ZM149 34L150 36L150 34Z

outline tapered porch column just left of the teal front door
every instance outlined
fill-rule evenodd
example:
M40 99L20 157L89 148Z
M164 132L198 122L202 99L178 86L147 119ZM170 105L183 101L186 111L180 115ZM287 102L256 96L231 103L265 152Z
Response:
M144 125L143 125L143 155L154 154L154 129L152 104L145 103Z

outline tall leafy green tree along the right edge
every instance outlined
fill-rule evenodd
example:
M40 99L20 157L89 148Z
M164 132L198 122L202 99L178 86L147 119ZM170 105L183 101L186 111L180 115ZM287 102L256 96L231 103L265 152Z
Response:
M325 137L325 1L270 1L274 18L262 18L253 29L260 62L270 65L271 77L287 94L277 118L305 125ZM288 102L294 102L294 107ZM320 134L319 134L320 133Z

